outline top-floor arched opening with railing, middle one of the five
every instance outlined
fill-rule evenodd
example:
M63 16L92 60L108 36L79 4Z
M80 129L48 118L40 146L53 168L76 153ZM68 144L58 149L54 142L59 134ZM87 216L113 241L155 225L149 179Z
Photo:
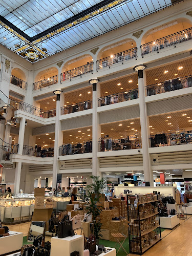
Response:
M93 72L93 58L91 55L85 54L65 63L62 67L61 81L81 76L89 72Z

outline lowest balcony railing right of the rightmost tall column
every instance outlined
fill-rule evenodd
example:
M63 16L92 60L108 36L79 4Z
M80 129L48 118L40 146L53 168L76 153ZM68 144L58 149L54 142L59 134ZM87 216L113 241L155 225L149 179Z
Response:
M192 133L164 133L150 136L151 147L192 144Z

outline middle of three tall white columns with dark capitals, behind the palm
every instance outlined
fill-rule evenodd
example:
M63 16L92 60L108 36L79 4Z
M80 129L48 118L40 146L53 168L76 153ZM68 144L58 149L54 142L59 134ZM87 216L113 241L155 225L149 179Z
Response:
M101 136L101 130L99 125L99 118L97 113L98 106L98 97L100 96L100 83L97 83L96 86L93 85L93 96L92 96L92 105L93 105L93 116L92 116L92 174L94 176L100 176L99 173L99 162L97 158L98 152L98 141Z

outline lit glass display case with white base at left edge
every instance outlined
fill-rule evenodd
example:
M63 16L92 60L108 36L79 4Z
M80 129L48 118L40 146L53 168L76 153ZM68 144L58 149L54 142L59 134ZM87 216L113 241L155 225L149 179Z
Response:
M0 218L4 224L30 221L34 211L35 199L23 198L18 195L11 198L0 199Z

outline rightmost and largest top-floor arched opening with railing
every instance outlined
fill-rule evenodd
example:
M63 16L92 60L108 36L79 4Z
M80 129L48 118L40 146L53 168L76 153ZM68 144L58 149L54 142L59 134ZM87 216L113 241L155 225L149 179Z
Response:
M180 18L159 27L148 30L142 40L142 54L164 49L165 47L179 44L192 39L191 22Z

